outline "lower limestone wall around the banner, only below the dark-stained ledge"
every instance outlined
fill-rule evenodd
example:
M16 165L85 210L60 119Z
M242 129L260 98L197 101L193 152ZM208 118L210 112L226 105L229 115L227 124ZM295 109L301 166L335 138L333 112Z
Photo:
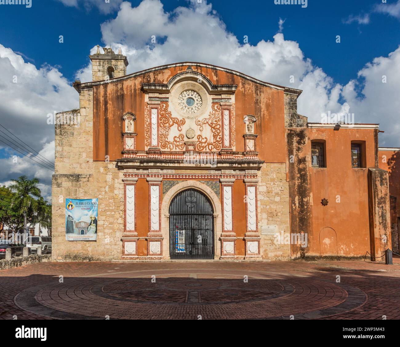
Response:
M116 169L115 162L94 162L93 166L90 174L53 176L52 258L55 260L111 260L121 257L124 230L123 174ZM66 241L65 198L96 197L97 241Z

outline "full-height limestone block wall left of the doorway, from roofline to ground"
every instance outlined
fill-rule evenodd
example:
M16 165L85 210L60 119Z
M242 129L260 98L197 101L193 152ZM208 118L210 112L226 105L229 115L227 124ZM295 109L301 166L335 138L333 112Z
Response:
M58 122L52 186L52 259L120 259L123 228L122 172L116 162L93 162L92 89L80 93L78 122ZM64 112L68 114L69 112ZM64 119L62 114L58 119ZM65 199L98 198L97 241L66 241Z

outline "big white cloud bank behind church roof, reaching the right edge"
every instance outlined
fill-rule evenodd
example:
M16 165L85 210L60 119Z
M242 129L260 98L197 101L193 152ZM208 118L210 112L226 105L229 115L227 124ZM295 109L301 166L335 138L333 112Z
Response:
M359 23L368 20L368 14L353 17ZM280 19L279 28L283 22ZM111 42L114 51L122 47L128 56L128 73L182 61L224 66L266 82L302 89L298 112L310 122L320 122L321 114L328 111L352 112L356 122L381 123L387 131L380 137L381 145L400 146L394 96L400 92L395 83L400 78L398 50L387 58L376 58L360 70L357 80L340 85L306 58L297 42L285 40L280 32L271 41L243 44L204 0L200 4L192 0L189 7L178 7L171 13L164 11L159 0L143 0L137 7L123 2L116 17L101 25L101 31L103 42ZM156 44L151 42L152 35ZM390 76L386 84L382 83L384 74ZM78 76L82 81L91 80L91 66ZM290 76L294 76L292 84ZM360 90L364 94L361 99Z

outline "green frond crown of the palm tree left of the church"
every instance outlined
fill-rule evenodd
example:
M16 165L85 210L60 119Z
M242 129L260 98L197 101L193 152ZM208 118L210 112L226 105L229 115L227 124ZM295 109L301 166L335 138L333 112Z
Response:
M38 183L40 182L37 177L28 179L26 175L18 177L18 179L12 179L13 183L9 188L16 193L15 203L19 206L19 211L21 214L24 212L28 213L28 210L36 211L38 207L38 200L34 199L40 198L41 191L38 188Z

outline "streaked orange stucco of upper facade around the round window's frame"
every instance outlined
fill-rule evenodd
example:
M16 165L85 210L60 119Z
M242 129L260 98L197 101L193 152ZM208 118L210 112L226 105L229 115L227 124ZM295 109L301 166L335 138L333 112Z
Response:
M110 82L93 87L93 160L110 161L122 157L122 116L126 112L136 115L137 150L144 150L144 92L142 83L167 83L186 71L187 66L165 68L147 72L126 80ZM234 74L192 65L214 84L237 84L236 151L244 151L242 135L246 132L243 117L257 116L256 133L260 159L271 163L286 162L284 146L284 92L262 86Z

